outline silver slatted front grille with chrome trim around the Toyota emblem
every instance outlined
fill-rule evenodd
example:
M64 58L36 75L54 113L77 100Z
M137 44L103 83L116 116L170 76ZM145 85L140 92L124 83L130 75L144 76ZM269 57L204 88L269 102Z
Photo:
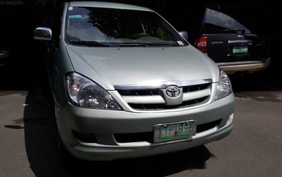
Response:
M173 82L169 83L170 85L174 85ZM185 81L184 83L191 82ZM169 86L168 84L163 84L158 88L140 85L117 86L117 91L134 110L158 111L182 109L199 106L210 100L212 80L195 80L193 83L191 85L181 84L179 89L182 90L182 101L180 100L180 102L175 103L176 105L167 103L168 100L165 91L167 89L166 87ZM175 86L177 85L175 84Z

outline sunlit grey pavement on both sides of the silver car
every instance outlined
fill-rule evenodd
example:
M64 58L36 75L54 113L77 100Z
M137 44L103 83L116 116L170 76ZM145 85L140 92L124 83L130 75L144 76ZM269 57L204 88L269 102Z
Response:
M282 176L282 91L238 80L233 81L235 126L225 139L167 155L65 165L59 163L53 103L42 91L45 86L2 89L0 176Z

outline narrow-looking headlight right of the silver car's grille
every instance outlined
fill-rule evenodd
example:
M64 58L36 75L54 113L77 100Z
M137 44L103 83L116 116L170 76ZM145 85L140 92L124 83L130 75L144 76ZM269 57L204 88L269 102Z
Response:
M232 87L231 87L230 79L224 71L220 70L220 76L217 84L215 100L224 98L230 95L231 93L232 93Z

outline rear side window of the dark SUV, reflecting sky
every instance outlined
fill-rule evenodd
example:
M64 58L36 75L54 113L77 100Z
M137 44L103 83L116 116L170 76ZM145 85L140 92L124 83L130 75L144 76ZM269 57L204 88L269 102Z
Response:
M251 31L234 18L220 11L206 8L203 34L251 33Z

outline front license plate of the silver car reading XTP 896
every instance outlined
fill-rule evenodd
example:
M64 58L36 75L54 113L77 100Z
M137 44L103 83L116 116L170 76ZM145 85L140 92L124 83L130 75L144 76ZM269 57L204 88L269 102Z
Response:
M154 126L154 142L185 139L196 134L197 121L159 124Z

